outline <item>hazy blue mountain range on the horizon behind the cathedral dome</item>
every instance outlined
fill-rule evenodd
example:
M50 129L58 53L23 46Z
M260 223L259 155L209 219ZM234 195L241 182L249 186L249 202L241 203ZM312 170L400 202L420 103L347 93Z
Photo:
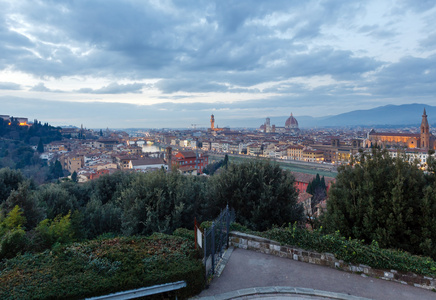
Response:
M354 110L347 113L314 118L310 116L295 116L300 128L309 127L344 127L344 126L365 126L365 127L380 127L380 126L419 126L424 108L427 111L428 121L431 127L436 127L436 106L427 104L403 104L403 105L386 105L379 106L367 110ZM284 126L286 119L289 116L271 117L271 125ZM229 124L234 124L234 121L228 121ZM243 124L242 122L245 122ZM239 120L234 124L235 127L259 127L265 122L263 119L245 119ZM227 122L224 122L227 123ZM233 127L232 126L232 127Z

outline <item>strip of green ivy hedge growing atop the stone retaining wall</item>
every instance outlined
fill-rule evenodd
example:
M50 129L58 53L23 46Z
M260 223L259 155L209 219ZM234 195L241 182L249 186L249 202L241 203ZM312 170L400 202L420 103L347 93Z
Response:
M339 232L326 235L321 230L308 231L295 225L265 232L254 232L239 224L232 224L231 229L274 240L282 245L332 253L337 259L349 263L436 277L436 262L430 257L411 255L401 250L382 249L375 241L367 245L363 241L346 239Z

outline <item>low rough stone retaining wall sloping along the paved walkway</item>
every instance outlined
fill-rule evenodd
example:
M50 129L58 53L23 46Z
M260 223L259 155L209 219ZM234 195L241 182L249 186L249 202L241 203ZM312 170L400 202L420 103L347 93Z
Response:
M381 278L436 291L436 278L417 275L411 272L379 270L366 265L353 265L336 259L330 253L318 253L293 246L281 246L278 242L241 232L233 231L230 233L230 244L236 248L254 250L311 264L328 266L346 272L358 273L362 274L362 276Z

